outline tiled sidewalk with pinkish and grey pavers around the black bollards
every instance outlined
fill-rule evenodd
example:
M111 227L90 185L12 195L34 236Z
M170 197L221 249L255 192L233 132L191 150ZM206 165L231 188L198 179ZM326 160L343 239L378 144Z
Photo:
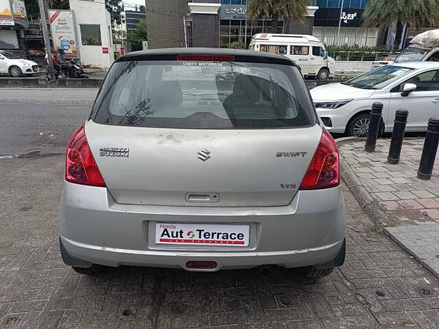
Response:
M387 163L390 139L380 139L375 153L364 151L364 143L342 143L340 152L364 186L363 198L372 200L368 207L381 211L386 232L439 277L439 156L424 181L416 177L423 138L404 141L399 164Z

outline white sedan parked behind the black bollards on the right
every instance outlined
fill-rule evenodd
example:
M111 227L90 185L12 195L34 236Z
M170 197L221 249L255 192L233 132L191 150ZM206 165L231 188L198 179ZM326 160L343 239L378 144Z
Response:
M311 90L318 116L331 133L365 137L372 103L383 103L381 132L392 132L395 111L409 110L407 132L423 132L439 116L439 62L390 64L347 82Z

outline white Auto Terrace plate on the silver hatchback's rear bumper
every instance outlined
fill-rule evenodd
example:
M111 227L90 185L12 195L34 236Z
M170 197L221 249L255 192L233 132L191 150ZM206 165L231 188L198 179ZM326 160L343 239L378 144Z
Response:
M248 246L249 225L156 223L156 243Z

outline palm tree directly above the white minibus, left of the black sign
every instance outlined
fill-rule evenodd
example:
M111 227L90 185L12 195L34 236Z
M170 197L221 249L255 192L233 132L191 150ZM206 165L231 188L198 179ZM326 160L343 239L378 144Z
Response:
M257 20L268 16L272 20L272 32L277 32L278 19L297 19L303 22L307 14L308 0L248 0L248 16Z

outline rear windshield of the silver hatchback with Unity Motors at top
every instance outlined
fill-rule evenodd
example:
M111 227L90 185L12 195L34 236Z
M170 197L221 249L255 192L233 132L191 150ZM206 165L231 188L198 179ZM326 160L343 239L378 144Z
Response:
M169 128L277 128L316 123L294 66L132 61L112 65L91 119Z

